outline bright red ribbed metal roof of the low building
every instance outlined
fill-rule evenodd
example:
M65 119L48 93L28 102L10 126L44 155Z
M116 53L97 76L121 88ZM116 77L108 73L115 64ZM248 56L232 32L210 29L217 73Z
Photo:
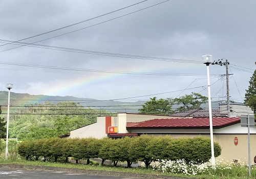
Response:
M240 123L241 118L212 118L213 128L222 128ZM176 118L176 119L153 119L138 122L135 125L126 126L127 129L133 128L209 128L209 118Z

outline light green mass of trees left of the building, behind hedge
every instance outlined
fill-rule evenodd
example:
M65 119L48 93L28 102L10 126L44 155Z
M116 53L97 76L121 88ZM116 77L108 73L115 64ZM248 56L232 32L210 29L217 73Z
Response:
M98 110L64 101L30 104L10 116L9 136L18 140L51 138L96 122ZM33 115L26 115L33 114ZM1 120L0 120L1 135Z

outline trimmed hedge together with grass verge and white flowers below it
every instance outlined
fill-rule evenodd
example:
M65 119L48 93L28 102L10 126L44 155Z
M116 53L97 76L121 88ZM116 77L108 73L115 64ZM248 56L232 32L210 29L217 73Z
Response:
M221 152L217 143L215 143L215 152L216 155ZM19 143L18 153L10 152L9 160L5 160L3 152L0 164L40 165L191 178L256 177L256 168L252 166L251 177L249 177L248 167L241 162L230 163L221 160L217 161L216 166L212 168L211 163L208 162L211 154L210 141L207 138L179 140L168 136L159 138L141 136L118 140L51 138L26 140ZM96 160L99 158L101 161ZM131 165L132 162L137 164L138 161L144 165L139 167Z

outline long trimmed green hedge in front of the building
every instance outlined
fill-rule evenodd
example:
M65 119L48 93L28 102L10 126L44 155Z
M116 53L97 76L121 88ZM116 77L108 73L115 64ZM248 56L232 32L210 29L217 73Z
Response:
M221 154L221 147L218 143L214 144L215 156ZM145 163L146 168L153 161L168 159L184 159L186 162L197 161L200 163L209 161L211 158L210 139L208 138L181 138L173 139L169 136L150 137L140 136L134 138L121 139L40 139L27 140L19 144L18 153L26 156L28 160L33 156L36 160L44 157L46 161L49 157L54 157L56 162L59 156L72 157L76 160L84 159L90 163L90 158L110 160L114 162L127 162L127 167L136 161Z

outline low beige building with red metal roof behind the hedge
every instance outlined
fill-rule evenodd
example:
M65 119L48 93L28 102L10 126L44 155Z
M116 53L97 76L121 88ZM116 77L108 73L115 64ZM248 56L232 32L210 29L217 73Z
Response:
M227 161L248 159L247 127L241 127L240 117L213 117L214 141L222 147L219 158ZM210 138L209 118L172 117L118 113L117 117L98 117L97 122L70 131L61 137L67 138L120 138L125 136L170 135L173 138ZM250 128L250 140L256 140L256 128ZM251 142L251 161L256 156L256 143Z

